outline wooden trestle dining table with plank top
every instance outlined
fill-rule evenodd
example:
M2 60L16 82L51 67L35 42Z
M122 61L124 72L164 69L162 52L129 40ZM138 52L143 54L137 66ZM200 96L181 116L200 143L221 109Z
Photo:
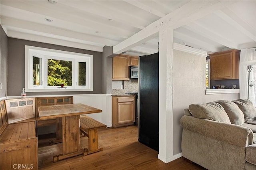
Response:
M84 153L80 148L80 115L100 112L102 110L81 103L38 107L40 120L56 118L62 122L62 154L53 156L53 162Z

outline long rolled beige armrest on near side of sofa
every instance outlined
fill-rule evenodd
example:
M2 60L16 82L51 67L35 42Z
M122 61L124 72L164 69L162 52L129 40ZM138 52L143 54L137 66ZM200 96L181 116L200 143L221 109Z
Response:
M180 125L184 129L236 146L248 146L253 143L252 130L239 125L198 119L187 115L182 116Z

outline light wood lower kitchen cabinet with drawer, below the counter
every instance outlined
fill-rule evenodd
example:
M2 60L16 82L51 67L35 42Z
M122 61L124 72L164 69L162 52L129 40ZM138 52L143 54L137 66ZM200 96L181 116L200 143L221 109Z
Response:
M133 125L135 96L112 96L112 127Z

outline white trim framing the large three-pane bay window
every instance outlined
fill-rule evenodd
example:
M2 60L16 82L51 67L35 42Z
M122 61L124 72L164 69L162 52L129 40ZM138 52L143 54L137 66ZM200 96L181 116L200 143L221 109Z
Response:
M72 87L67 87L66 89L58 89L57 87L49 87L49 86L34 86L32 78L32 62L33 62L33 55L37 54L41 56L42 58L46 58L46 56L53 56L52 59L68 59L69 61L72 61ZM43 59L42 59L43 60ZM76 86L78 82L78 62L83 62L86 60L86 86ZM74 62L74 63L73 63ZM45 64L44 67L42 67L40 73L42 74L42 81L44 84L47 84L47 62L43 62L42 64ZM74 67L75 65L75 67ZM87 74L88 73L88 74ZM30 79L29 79L30 77ZM74 53L69 51L61 51L56 49L47 49L42 47L34 47L25 45L25 90L26 92L59 92L59 91L93 91L93 55L89 54L83 54L83 53Z

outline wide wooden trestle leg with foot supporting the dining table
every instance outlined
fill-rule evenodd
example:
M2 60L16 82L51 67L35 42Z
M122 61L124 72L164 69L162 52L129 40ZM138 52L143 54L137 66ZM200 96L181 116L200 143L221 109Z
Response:
M53 162L83 154L80 149L79 115L62 117L63 154L53 157Z

